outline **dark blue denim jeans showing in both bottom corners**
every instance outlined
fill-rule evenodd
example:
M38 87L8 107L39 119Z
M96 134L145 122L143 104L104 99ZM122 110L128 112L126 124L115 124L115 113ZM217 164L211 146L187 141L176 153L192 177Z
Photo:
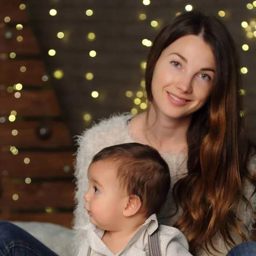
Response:
M0 221L0 256L58 255L20 227ZM256 256L256 242L238 244L227 256Z

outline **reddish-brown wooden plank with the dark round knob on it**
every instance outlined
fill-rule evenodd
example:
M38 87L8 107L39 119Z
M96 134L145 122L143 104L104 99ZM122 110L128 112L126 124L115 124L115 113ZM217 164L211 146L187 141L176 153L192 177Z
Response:
M36 132L49 127L52 132L47 140L40 139ZM17 130L16 136L12 131ZM63 122L5 122L0 125L0 146L12 145L19 147L69 147L72 145L70 132Z

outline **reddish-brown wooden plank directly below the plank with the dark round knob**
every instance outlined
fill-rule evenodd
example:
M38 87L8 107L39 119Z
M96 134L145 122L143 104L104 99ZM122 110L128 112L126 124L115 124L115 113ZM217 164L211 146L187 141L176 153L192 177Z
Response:
M29 158L28 164L24 163L25 158ZM72 152L2 152L0 173L24 178L69 177L73 176L73 160Z

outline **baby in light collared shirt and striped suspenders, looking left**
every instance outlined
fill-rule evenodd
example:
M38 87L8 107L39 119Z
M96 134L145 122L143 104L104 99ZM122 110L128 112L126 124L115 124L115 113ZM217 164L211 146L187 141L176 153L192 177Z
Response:
M186 237L158 225L171 177L154 148L126 143L102 149L88 169L84 208L90 224L79 256L191 256Z

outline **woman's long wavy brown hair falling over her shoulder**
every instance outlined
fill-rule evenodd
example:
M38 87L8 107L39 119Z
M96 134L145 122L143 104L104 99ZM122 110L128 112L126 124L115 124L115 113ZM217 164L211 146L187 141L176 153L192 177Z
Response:
M247 241L238 209L244 201L252 210L250 198L243 195L242 181L247 179L256 186L256 177L247 169L256 147L247 137L245 117L240 116L244 107L236 45L215 17L185 12L160 31L148 55L148 100L153 101L151 81L161 52L185 35L200 35L211 46L216 75L209 99L193 114L187 131L188 172L173 188L175 202L183 209L175 226L185 233L192 253L203 245L208 252L209 246L218 252L212 241L215 233L230 247L236 244L232 233Z

